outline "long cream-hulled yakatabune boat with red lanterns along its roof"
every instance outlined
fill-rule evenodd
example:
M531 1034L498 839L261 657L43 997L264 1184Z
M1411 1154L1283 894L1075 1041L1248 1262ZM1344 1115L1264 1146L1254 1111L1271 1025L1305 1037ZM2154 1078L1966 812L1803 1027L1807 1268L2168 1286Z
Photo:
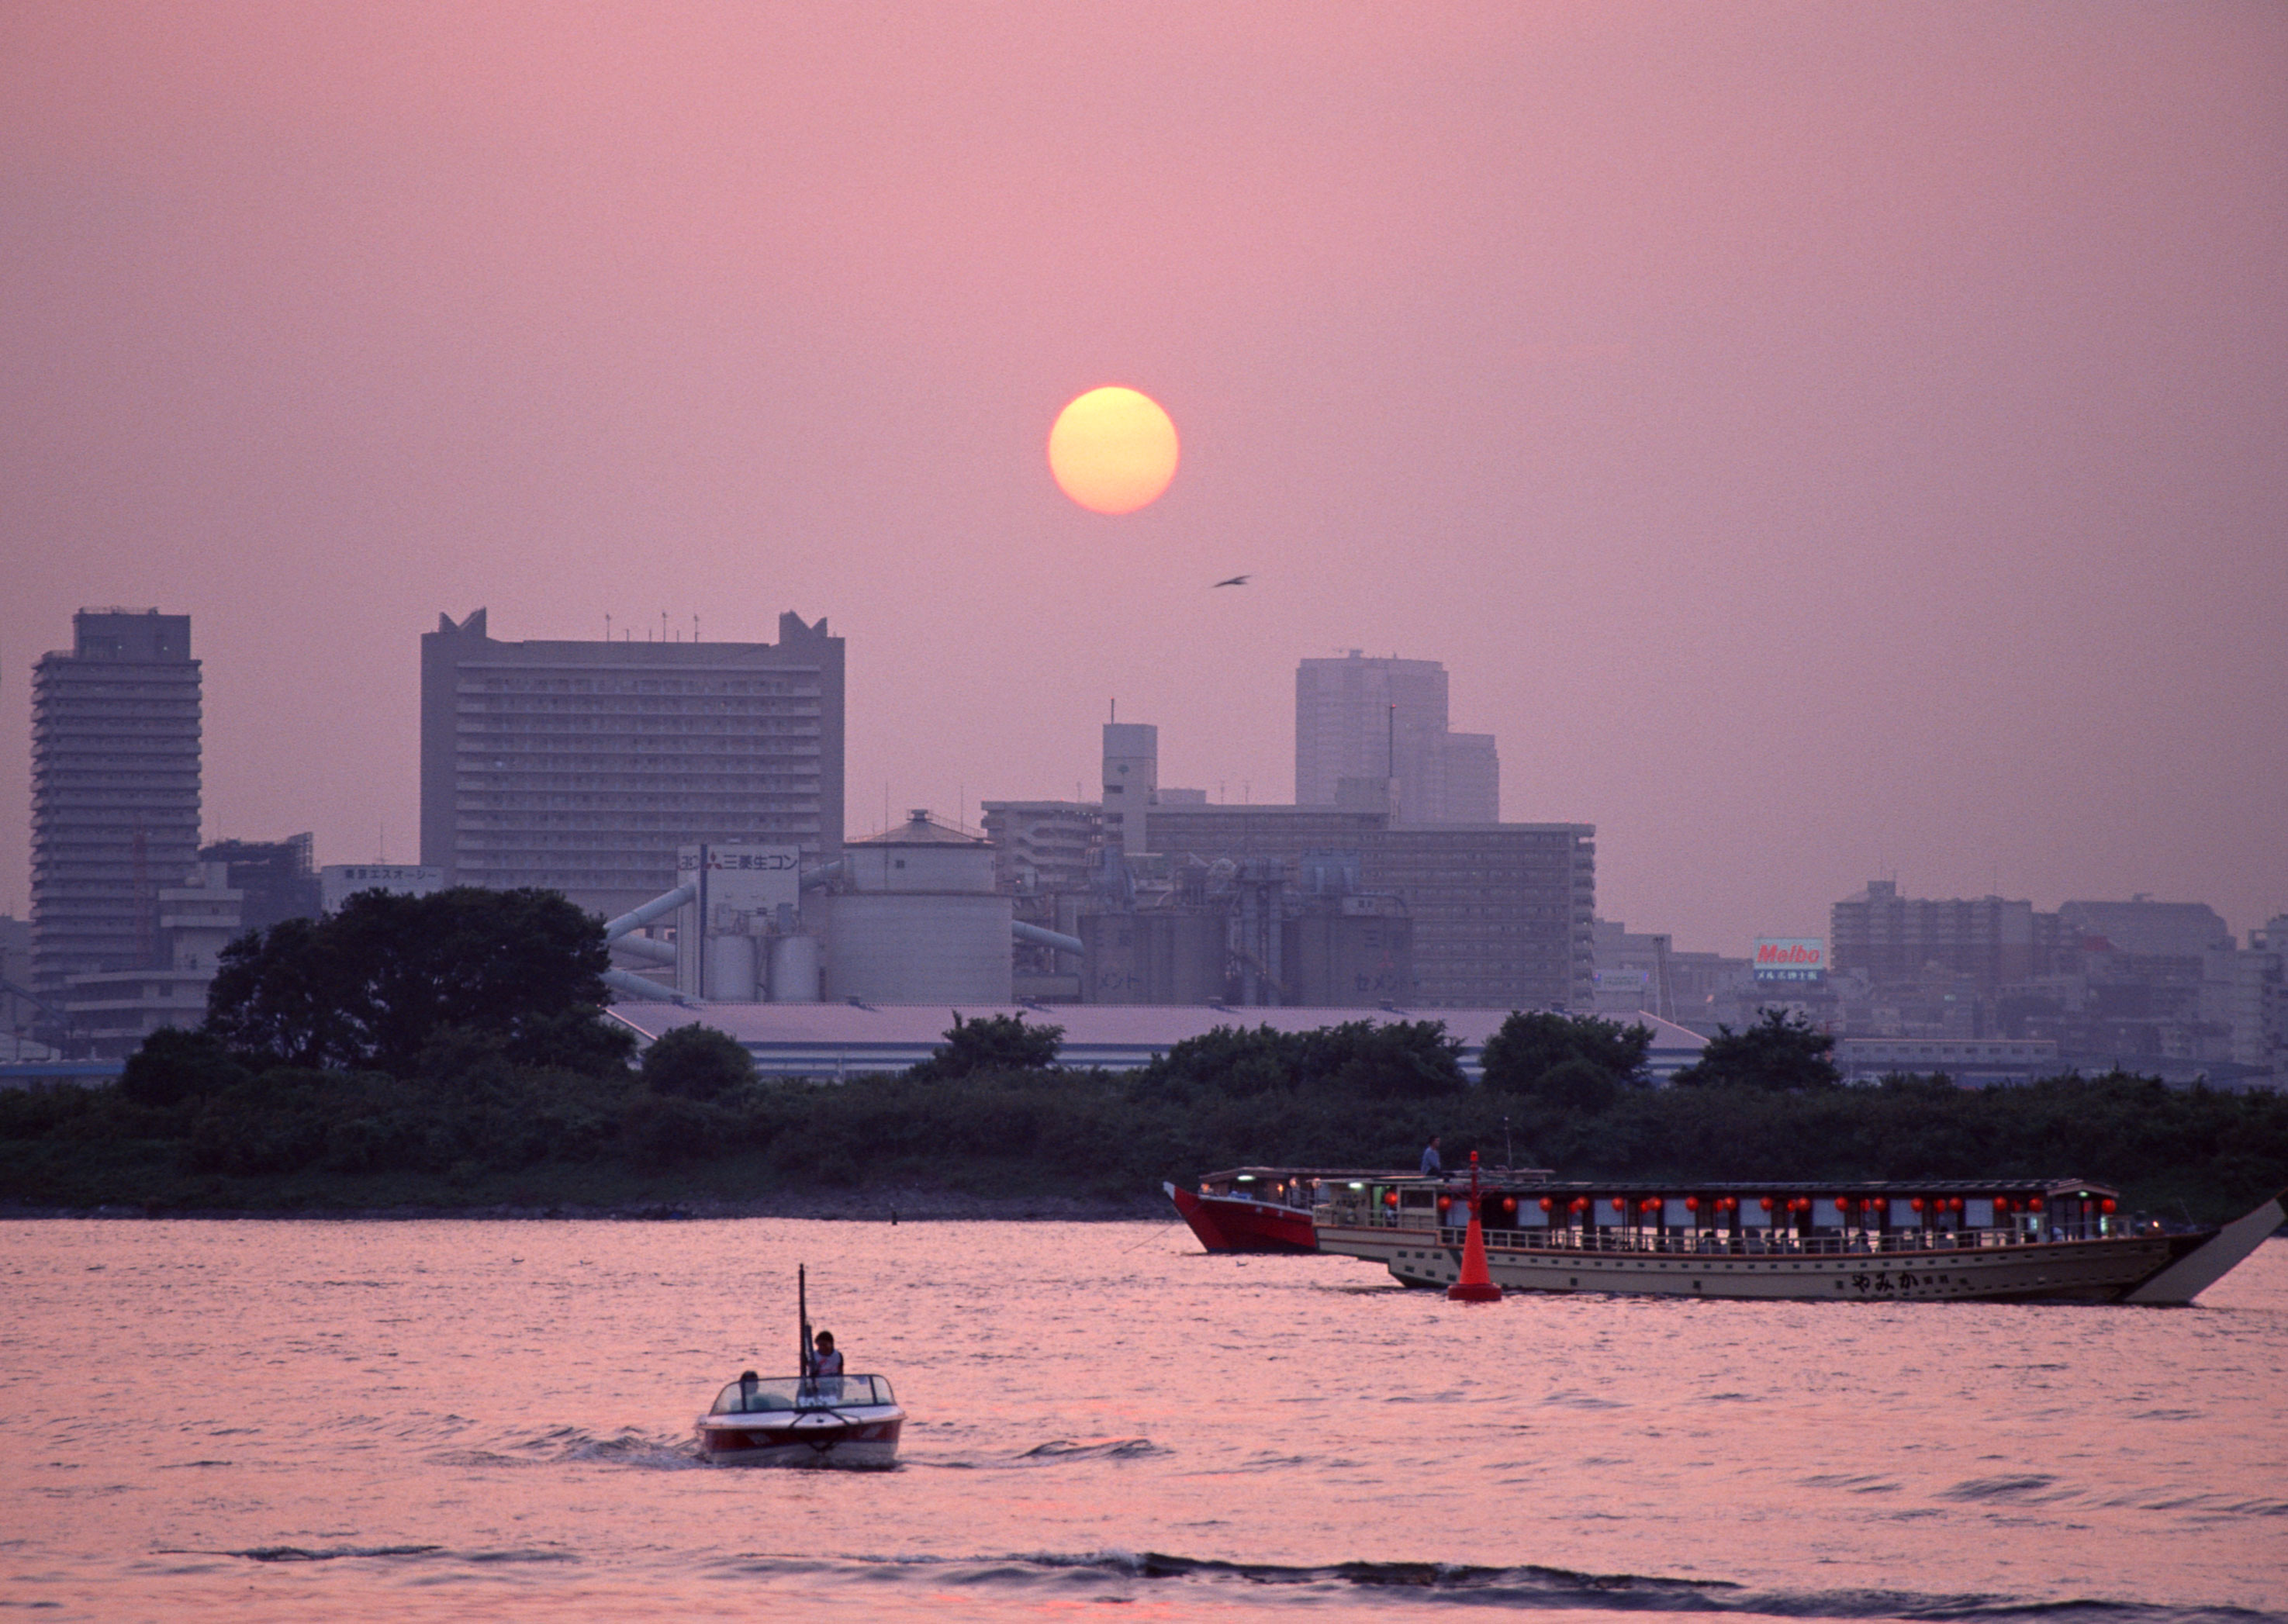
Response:
M1366 1176L1320 1185L1320 1251L1405 1285L1462 1272L1469 1185ZM2078 1178L1826 1185L1556 1183L1478 1192L1485 1260L1508 1292L1670 1297L2066 1299L2187 1304L2288 1221L2288 1192L2222 1228L2164 1231Z

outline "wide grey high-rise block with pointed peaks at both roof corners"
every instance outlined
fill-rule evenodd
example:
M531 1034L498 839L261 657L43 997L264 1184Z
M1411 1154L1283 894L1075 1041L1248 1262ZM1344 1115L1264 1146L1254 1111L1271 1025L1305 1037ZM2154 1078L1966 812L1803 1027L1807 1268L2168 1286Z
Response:
M686 844L842 851L842 638L496 643L421 636L421 862L597 913L675 885Z

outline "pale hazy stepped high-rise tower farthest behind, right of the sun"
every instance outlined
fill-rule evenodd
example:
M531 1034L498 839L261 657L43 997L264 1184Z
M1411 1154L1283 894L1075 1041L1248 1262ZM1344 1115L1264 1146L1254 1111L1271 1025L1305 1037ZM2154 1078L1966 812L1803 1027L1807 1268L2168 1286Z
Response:
M1348 785L1345 785L1348 780ZM1295 803L1387 807L1398 823L1501 821L1492 734L1446 727L1435 659L1306 659L1295 666Z

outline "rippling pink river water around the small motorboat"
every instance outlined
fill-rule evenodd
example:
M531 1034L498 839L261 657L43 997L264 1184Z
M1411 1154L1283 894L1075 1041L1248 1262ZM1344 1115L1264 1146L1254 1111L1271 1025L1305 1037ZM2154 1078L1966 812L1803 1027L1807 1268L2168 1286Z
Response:
M799 1260L895 1473L691 1457ZM0 1308L34 1617L2288 1617L2283 1240L2183 1311L1464 1308L1151 1224L23 1221Z

